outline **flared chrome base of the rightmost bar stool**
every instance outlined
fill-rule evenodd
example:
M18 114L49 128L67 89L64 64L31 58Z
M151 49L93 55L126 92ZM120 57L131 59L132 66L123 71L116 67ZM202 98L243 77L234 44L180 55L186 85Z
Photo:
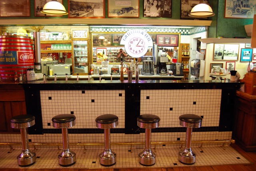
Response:
M196 154L189 148L179 152L179 161L185 165L192 165L196 162Z

